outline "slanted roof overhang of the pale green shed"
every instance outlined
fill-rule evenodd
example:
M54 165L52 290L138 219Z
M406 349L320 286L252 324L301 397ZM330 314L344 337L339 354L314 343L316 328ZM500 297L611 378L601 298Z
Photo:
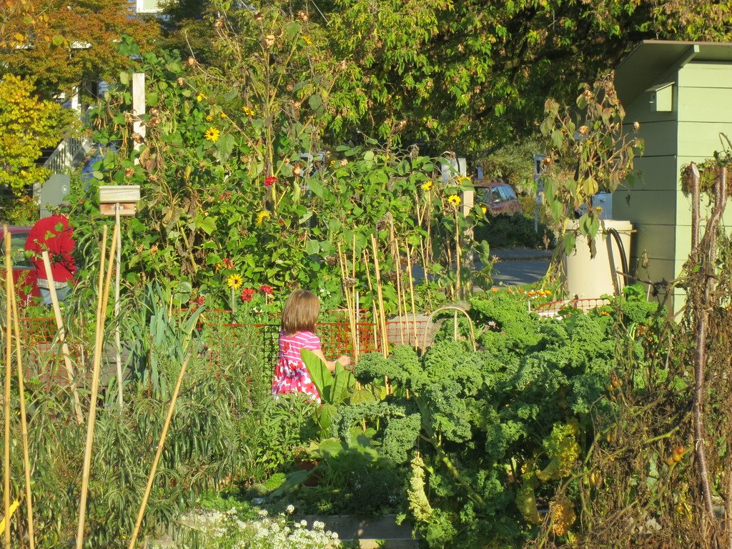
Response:
M692 60L732 61L732 43L643 40L616 67L615 87L621 102L630 103L669 71Z

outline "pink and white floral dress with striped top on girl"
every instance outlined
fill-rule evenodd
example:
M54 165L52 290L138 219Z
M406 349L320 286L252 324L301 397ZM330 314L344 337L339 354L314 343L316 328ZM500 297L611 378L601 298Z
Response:
M299 391L312 395L313 400L320 403L318 389L310 380L310 374L307 373L300 356L302 349L318 351L320 348L320 338L313 332L297 332L293 335L280 332L280 358L277 360L275 378L272 380L272 395Z

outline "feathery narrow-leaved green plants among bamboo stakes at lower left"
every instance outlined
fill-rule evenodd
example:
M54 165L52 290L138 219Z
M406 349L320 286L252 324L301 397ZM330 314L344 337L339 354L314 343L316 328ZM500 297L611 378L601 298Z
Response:
M255 421L260 414L254 410L260 409L265 395L269 402L272 397L267 394L269 391L260 392L261 370L252 367L252 357L239 348L213 360L204 352L203 334L191 334L196 315L171 316L168 296L155 288L138 296L135 305L135 314L124 315L122 324L124 347L130 348L132 341L140 344L130 348L130 364L123 363L129 372L124 382L124 408L117 405L114 378L100 386L86 517L85 542L90 548L127 545L120 533L129 534L134 526L135 513L130 513L130 509L137 509L140 504L186 349L193 357L165 441L143 535L160 524L173 523L181 512L195 504L199 494L219 490L231 479L256 477L257 471L261 471L261 465L256 463L261 455L252 444L265 437L264 429ZM86 307L87 315L78 310L77 306L65 310L73 313L66 326L75 360L80 357L80 349L84 350L83 356L91 356L94 339L93 320L89 323L93 308ZM81 449L86 438L86 423L78 425L73 419L65 377L55 376L51 382L48 379L48 372L56 368L57 357L55 348L42 353L30 348L24 353L24 365L32 372L26 383L26 409L34 498L43 502L34 506L40 547L65 545L75 535L72 525L78 518ZM106 368L105 371L108 372ZM108 373L105 376L109 378ZM88 381L85 376L79 376L79 380L86 416ZM266 384L269 385L269 377ZM20 440L15 384L12 390L12 436ZM296 419L288 410L288 421ZM250 423L245 430L247 421ZM244 433L247 436L242 436ZM283 433L288 430L272 429L267 434ZM12 452L13 479L23 478L21 455L19 449ZM276 463L270 462L265 471L276 467ZM20 482L13 481L13 498L22 498L21 488ZM16 516L25 530L24 515Z

